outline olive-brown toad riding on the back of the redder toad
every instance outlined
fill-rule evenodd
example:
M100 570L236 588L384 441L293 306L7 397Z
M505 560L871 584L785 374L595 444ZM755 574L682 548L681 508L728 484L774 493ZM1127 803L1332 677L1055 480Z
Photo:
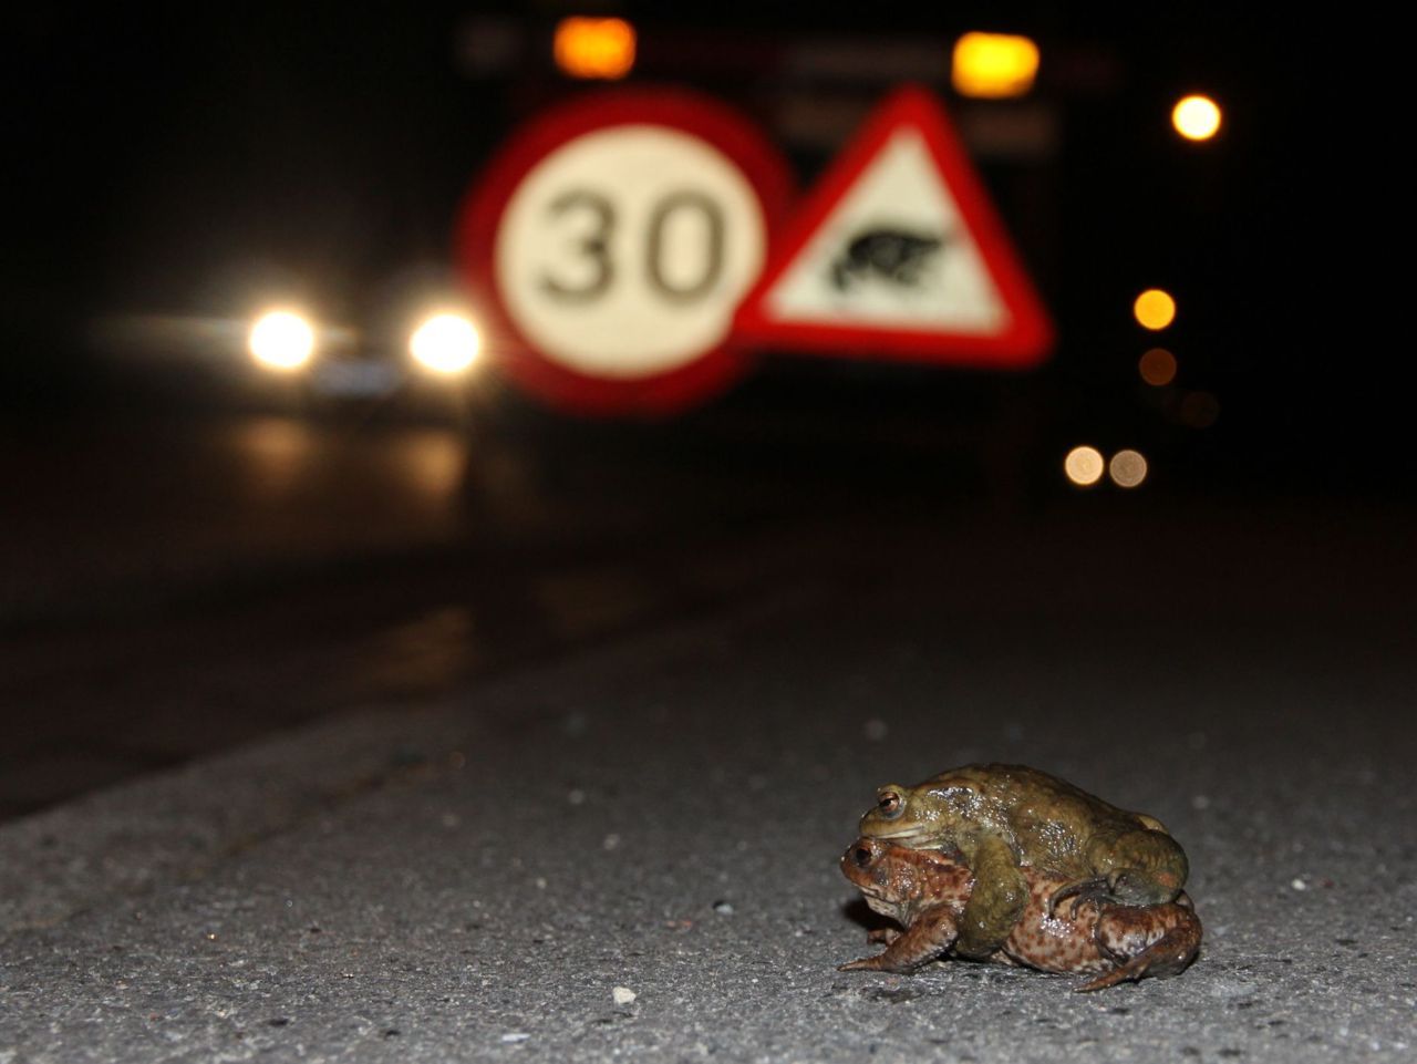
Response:
M1186 854L1159 820L1036 768L965 765L876 795L862 816L863 836L959 851L973 871L956 945L965 956L1003 945L1029 902L1030 868L1057 881L1049 912L1068 897L1159 905L1186 884Z

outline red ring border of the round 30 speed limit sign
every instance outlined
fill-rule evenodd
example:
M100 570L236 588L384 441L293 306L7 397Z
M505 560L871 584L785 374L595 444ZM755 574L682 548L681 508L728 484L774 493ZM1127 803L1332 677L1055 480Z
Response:
M633 380L591 377L541 354L523 336L507 313L493 264L502 214L531 169L578 136L626 125L670 126L706 140L735 163L762 208L764 261L771 258L794 193L782 153L738 112L697 92L667 88L589 92L531 119L469 191L458 218L456 256L479 309L493 326L489 354L517 384L575 414L662 417L707 400L747 370L747 353L733 333L713 350L667 373Z

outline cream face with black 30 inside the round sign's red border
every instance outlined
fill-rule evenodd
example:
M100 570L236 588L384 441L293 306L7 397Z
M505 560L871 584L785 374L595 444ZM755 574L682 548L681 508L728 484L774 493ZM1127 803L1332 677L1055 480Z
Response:
M597 378L677 370L721 344L762 269L767 224L733 160L670 126L568 140L512 194L493 269L541 354Z

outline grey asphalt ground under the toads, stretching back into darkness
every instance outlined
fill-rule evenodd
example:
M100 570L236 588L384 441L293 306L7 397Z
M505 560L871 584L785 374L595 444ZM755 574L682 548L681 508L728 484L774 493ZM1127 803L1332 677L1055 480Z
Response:
M0 1060L1411 1060L1410 514L788 509L17 629L11 711L213 734L0 826ZM1165 820L1197 963L837 973L856 816L976 759Z

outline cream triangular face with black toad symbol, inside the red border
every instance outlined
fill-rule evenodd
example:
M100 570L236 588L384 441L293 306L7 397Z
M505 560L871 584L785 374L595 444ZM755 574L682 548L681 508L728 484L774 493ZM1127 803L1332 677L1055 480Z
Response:
M914 129L897 130L768 290L779 322L993 336L1010 320Z

